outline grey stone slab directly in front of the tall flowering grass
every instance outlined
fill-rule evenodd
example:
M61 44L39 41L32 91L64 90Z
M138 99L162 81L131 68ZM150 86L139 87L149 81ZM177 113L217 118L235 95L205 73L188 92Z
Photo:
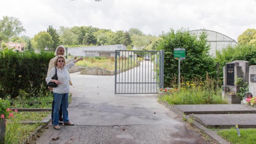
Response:
M241 104L219 104L219 105L174 105L180 112L189 114L237 114L256 113L256 108Z

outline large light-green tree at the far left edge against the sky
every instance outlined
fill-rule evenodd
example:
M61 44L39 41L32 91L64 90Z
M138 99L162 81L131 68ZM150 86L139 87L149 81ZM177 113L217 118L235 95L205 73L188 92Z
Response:
M0 20L0 43L9 41L10 38L19 35L21 32L25 32L25 28L18 18L4 16Z

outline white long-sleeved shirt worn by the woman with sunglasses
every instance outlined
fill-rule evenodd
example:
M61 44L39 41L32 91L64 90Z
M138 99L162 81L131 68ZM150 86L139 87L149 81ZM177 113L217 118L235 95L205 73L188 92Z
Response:
M66 66L64 66L62 69L57 68L57 76L58 76L58 81L60 84L56 87L53 88L54 93L69 93L69 68L74 66L75 63L72 61ZM45 81L49 83L52 80L52 77L55 74L55 67L51 69L47 77L45 78Z

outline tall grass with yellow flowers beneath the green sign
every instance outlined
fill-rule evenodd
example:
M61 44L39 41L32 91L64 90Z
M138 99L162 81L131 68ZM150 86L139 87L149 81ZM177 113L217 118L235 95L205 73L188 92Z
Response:
M170 105L192 105L192 104L225 104L222 100L221 81L216 81L207 76L205 81L193 79L192 81L182 81L181 90L166 93L159 99L168 102ZM173 83L176 85L176 83Z

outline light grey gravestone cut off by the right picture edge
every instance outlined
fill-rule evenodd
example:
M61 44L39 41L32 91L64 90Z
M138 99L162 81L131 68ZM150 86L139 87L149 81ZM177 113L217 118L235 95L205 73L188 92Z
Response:
M253 97L256 96L256 65L249 67L249 92Z

